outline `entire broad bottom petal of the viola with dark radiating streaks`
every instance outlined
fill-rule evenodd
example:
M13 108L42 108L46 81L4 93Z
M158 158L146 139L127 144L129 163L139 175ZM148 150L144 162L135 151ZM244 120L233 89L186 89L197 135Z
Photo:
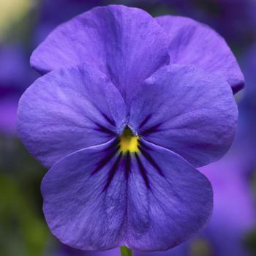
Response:
M206 224L212 191L203 174L146 141L136 155L114 143L70 154L45 175L43 209L57 238L84 250L163 250Z

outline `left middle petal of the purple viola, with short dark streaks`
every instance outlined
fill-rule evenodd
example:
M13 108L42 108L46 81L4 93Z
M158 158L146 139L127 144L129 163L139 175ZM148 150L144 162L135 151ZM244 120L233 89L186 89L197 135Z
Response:
M86 64L59 69L27 89L18 107L18 132L46 166L74 151L115 138L126 106L108 78Z

